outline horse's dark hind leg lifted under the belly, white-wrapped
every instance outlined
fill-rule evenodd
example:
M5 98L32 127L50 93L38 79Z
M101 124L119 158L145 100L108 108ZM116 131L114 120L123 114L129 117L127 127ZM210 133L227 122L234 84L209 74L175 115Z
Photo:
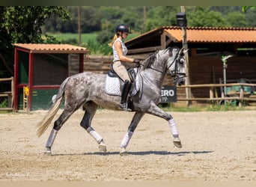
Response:
M99 149L106 152L106 144L104 144L103 138L98 132L91 126L91 120L97 111L97 104L95 102L86 102L84 105L85 115L82 118L80 125L97 141Z

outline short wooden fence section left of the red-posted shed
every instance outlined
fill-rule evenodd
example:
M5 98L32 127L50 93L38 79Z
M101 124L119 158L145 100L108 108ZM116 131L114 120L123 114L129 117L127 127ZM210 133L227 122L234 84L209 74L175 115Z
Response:
M13 96L14 96L14 93L13 93L13 86L14 86L13 77L0 79L0 83L1 82L10 82L10 91L0 91L0 96L7 97L7 99L8 99L8 107L7 108L0 108L0 111L13 111Z

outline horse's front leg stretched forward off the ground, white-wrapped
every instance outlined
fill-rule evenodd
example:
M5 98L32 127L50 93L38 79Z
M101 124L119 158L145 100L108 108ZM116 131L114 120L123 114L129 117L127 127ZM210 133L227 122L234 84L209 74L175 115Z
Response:
M149 114L153 114L155 116L158 117L162 117L165 120L168 120L171 132L172 132L172 136L174 137L173 143L175 147L181 148L181 141L179 138L179 132L177 130L177 126L175 123L174 118L171 116L171 114L168 114L167 112L163 111L161 108L159 108L158 106L156 106L155 104L153 104L150 109L147 111L147 113Z

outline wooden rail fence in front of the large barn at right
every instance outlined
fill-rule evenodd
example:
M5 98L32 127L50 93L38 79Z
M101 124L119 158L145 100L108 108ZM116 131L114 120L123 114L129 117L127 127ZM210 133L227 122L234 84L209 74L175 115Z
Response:
M240 91L230 93L229 96L225 96L223 89L228 87L240 87ZM228 84L204 84L204 85L182 85L177 87L179 88L209 88L209 97L203 97L203 98L178 98L177 101L221 101L221 100L235 100L237 99L239 101L239 106L242 106L243 101L256 101L256 96L251 96L251 93L248 93L245 91L246 87L254 88L256 87L256 84L249 84L249 83L228 83ZM215 88L222 88L221 89L221 97L219 97L215 93ZM214 93L216 96L214 96Z

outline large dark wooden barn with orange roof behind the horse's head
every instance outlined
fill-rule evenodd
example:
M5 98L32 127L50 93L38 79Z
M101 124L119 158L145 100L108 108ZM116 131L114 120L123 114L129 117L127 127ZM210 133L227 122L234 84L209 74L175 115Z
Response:
M219 83L223 78L223 55L233 55L227 63L228 80L256 79L256 28L188 27L186 34L191 85ZM126 46L128 55L146 55L168 46L181 47L182 40L181 28L164 26L128 40ZM186 97L184 89L177 91L178 100ZM220 96L220 89L217 91ZM208 93L207 88L192 89L191 99L207 98Z

